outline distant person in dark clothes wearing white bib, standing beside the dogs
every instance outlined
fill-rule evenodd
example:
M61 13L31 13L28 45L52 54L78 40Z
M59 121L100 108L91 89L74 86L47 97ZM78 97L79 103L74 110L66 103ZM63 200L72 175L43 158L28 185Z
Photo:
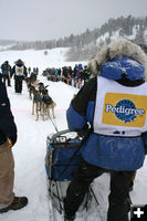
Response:
M14 91L15 93L22 92L22 82L28 76L24 63L19 59L11 71L11 77L14 75Z

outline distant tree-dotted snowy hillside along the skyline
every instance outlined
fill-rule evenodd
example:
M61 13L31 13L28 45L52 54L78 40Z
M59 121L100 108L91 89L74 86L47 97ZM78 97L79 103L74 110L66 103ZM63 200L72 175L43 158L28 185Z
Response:
M107 44L112 39L123 35L138 44L147 44L147 17L109 19L101 28L82 34L71 34L64 39L35 42L0 41L0 51L3 50L48 50L54 48L71 48L66 54L67 61L86 61L102 44Z

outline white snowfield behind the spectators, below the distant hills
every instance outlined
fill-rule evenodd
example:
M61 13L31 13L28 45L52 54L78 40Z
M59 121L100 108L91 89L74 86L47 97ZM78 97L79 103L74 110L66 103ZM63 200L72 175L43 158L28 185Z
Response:
M67 48L57 48L53 50L27 50L27 51L3 51L0 52L0 65L4 61L9 61L10 65L13 66L18 59L21 59L25 66L39 67L40 73L46 67L62 67L62 66L74 66L75 62L66 62L65 55ZM48 52L48 55L44 54ZM77 62L81 63L81 62ZM86 63L86 62L84 62Z

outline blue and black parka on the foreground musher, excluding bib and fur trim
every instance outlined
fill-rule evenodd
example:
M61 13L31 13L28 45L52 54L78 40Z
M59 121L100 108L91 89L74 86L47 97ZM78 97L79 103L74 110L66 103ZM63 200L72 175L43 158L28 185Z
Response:
M95 62L96 65L98 64L98 61L99 60L97 59ZM119 76L114 81L117 81L118 84L125 86L138 86L144 84L144 65L139 62L137 62L138 65L136 65L137 63L134 59L132 60L130 57L127 59L126 55L120 55L119 59L115 59L115 61L114 57L113 60L108 60L108 63L106 65L105 62L101 65L101 71L104 77L114 80L113 73L115 69L118 69L118 66L120 69L120 65L123 64L122 74L119 74ZM107 70L107 67L109 70ZM96 69L93 69L93 71L94 70ZM97 70L99 70L99 66ZM127 71L126 74L125 70ZM115 73L117 73L117 70ZM138 74L138 77L136 76L136 73ZM67 124L71 130L78 131L83 129L87 123L93 127L96 92L97 76L91 78L71 102L66 112ZM113 170L136 170L143 166L145 159L145 149L141 136L115 137L98 135L93 131L88 136L88 139L83 144L81 154L83 159L87 162Z

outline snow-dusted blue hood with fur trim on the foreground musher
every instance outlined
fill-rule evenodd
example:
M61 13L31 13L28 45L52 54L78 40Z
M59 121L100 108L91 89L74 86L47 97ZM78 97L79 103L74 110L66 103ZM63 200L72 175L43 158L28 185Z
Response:
M120 80L125 75L130 81L147 81L147 55L140 46L122 36L102 46L90 66L93 74L109 80Z

